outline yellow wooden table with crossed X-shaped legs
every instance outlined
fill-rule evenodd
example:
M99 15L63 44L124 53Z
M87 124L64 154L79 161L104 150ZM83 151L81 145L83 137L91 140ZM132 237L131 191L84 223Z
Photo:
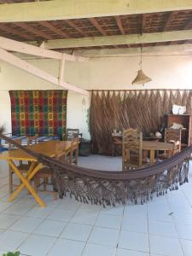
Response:
M56 144L60 143L59 141L48 141L44 143L38 143L32 146L29 146L28 148L34 150L35 152L39 154L45 154L49 157L55 157L55 148ZM66 150L68 150L71 147L70 141L66 141ZM29 192L32 194L32 196L35 198L35 200L38 202L38 204L41 207L45 207L44 201L38 196L38 194L33 189L30 181L32 180L32 177L41 169L43 164L39 163L36 158L34 158L30 154L26 154L21 149L13 149L11 151L3 152L3 154L0 154L0 160L7 160L9 166L12 168L12 170L15 172L15 174L20 178L20 181L22 182L20 186L15 189L14 193L10 195L9 201L13 201L15 197L20 193L22 189L26 187L26 189L29 190ZM29 161L31 163L29 170L26 174L26 177L23 176L18 169L18 166L15 165L15 160L25 160Z

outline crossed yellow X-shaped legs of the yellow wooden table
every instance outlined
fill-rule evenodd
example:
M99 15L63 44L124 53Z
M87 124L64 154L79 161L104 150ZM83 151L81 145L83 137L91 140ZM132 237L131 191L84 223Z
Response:
M42 164L38 164L33 170L32 166L30 166L29 171L27 172L27 176L23 177L22 174L20 173L20 170L15 166L15 163L13 160L8 160L9 166L11 166L12 170L16 173L18 177L20 177L20 180L22 183L20 186L14 191L14 193L9 197L9 201L13 201L15 197L20 193L24 187L29 190L29 192L32 194L32 196L35 198L35 200L38 202L38 204L41 207L45 207L44 201L41 200L41 198L38 196L38 194L35 192L35 190L32 188L32 185L29 183L32 177L38 172L38 170L41 168Z

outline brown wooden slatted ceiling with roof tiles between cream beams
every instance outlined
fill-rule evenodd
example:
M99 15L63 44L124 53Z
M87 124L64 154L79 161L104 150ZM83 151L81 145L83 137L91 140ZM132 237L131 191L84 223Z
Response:
M49 1L49 0L47 0ZM35 2L34 0L0 0L2 4ZM0 35L22 42L64 38L91 38L155 32L172 32L192 29L192 10L181 10L144 15L119 15L76 20L49 20L0 23ZM192 40L155 42L152 44L121 44L85 47L127 48L167 44L192 44ZM80 48L78 48L80 49Z

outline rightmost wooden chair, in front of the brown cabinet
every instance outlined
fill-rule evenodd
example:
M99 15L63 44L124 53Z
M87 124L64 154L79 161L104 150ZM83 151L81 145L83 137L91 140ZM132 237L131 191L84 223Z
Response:
M164 142L172 143L172 155L181 151L181 132L181 129L166 128L165 130ZM159 160L165 160L168 157L168 154L164 152L163 154L158 154L157 158Z

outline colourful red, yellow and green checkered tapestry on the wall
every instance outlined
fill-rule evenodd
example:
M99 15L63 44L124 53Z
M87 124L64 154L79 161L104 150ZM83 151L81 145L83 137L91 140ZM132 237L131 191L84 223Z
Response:
M65 133L67 90L10 90L9 96L13 135Z

